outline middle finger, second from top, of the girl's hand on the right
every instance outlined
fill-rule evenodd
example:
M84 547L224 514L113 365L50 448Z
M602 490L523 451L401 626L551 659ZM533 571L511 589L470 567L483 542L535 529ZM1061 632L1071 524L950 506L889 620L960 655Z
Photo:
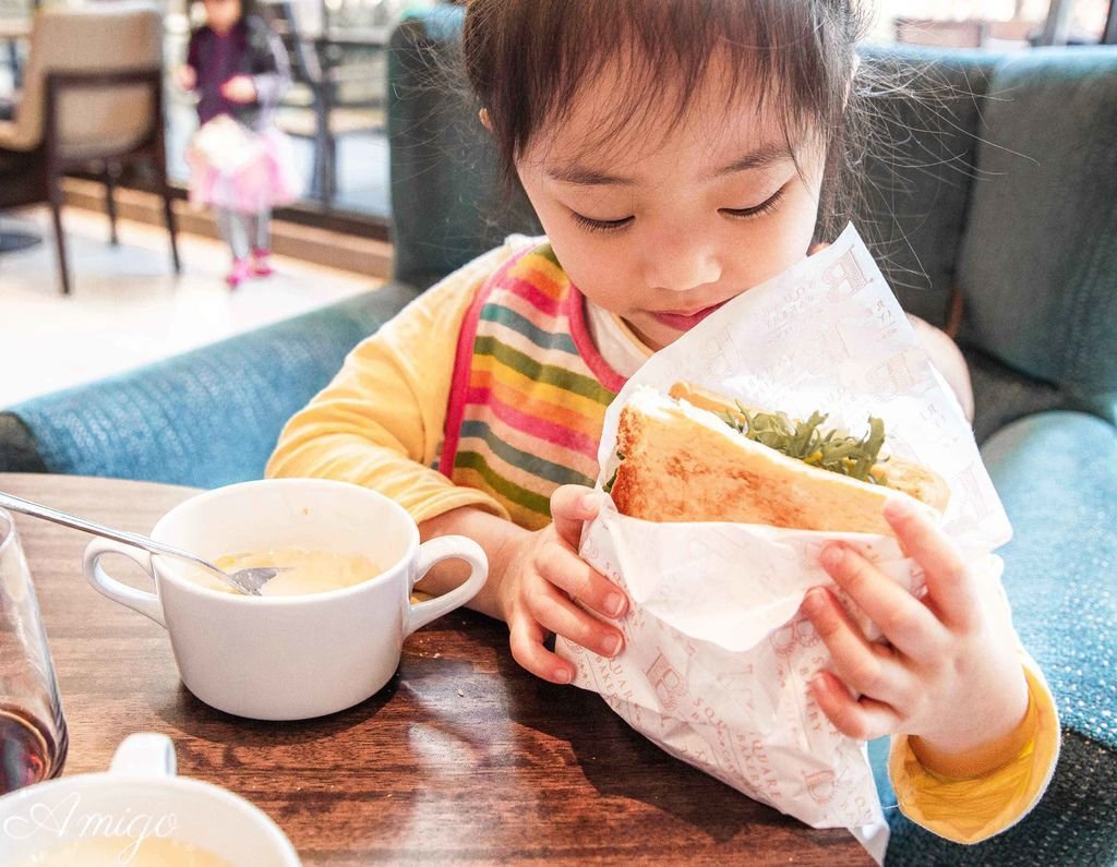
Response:
M938 652L943 627L934 613L861 554L837 543L823 550L821 562L901 654L926 659Z

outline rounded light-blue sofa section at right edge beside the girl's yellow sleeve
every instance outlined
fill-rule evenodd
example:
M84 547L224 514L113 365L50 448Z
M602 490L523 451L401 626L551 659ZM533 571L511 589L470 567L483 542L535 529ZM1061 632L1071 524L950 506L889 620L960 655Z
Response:
M1004 585L1063 725L1117 750L1117 428L1029 416L982 449L1013 525Z

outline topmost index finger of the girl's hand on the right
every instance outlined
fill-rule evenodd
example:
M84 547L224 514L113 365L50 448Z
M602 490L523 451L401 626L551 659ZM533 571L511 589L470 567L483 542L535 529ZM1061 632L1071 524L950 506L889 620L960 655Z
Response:
M981 610L977 591L957 550L932 520L903 499L885 506L904 549L923 566L927 594L947 626L965 629Z

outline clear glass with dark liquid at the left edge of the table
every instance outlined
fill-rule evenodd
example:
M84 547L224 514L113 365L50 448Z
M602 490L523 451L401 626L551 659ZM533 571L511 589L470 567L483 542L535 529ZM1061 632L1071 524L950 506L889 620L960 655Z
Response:
M16 524L0 509L0 794L57 777L66 745L35 584Z

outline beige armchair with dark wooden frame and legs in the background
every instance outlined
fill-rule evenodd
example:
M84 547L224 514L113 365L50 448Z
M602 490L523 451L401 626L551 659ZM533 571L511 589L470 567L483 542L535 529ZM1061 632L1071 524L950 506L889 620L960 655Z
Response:
M104 172L115 244L113 182L123 166L137 162L154 168L178 273L163 128L162 17L131 3L40 10L15 116L0 121L0 207L49 201L64 293L70 282L63 175L90 166Z

